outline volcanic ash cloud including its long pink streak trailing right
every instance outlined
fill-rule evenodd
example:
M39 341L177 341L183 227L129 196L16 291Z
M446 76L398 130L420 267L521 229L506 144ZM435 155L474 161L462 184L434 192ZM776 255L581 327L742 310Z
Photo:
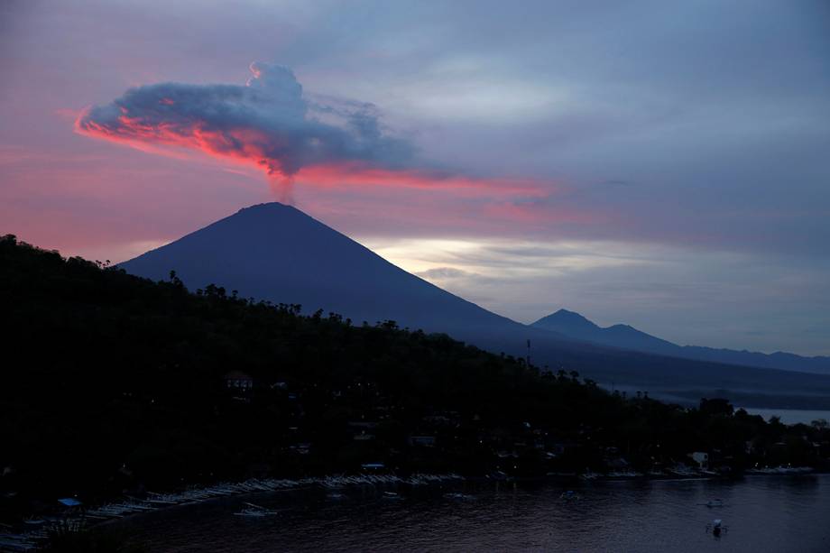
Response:
M318 188L447 189L459 197L540 198L551 183L477 177L419 158L384 131L370 103L308 94L291 69L251 64L245 85L161 83L84 110L76 131L144 152L204 152L263 170L283 200L294 182Z

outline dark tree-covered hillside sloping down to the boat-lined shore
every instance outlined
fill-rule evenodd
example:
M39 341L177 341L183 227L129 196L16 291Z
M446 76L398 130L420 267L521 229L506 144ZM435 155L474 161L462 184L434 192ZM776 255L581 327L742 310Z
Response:
M370 463L535 476L649 470L703 451L734 473L822 467L830 454L819 421L625 399L393 321L300 312L0 238L3 510ZM253 387L228 382L232 371Z

